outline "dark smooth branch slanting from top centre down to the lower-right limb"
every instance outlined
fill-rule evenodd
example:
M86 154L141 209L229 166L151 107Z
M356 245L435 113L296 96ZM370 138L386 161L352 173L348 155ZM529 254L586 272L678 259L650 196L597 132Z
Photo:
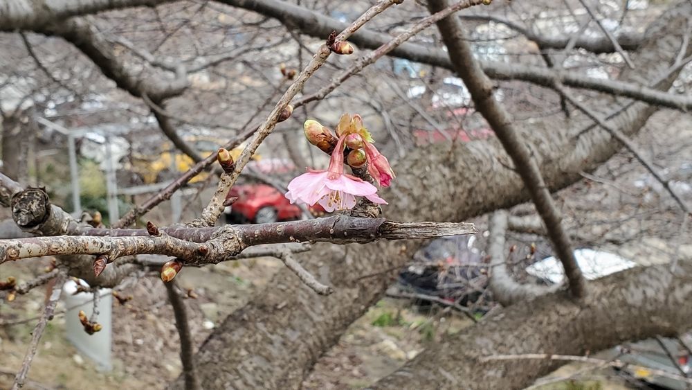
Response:
M431 13L444 10L448 6L447 0L428 1L428 8L430 8ZM509 113L500 103L495 101L493 85L474 59L471 45L467 42L459 19L455 17L442 19L437 22L437 27L449 50L449 57L455 66L457 76L464 80L464 84L473 98L475 109L488 121L495 135L498 136L504 150L511 157L518 174L531 193L531 200L534 201L536 211L547 227L553 249L565 268L565 275L570 283L570 291L574 297L583 298L586 294L585 278L576 263L576 258L574 258L572 242L563 227L561 213L553 203L536 160L531 158L529 148L520 139L511 123Z

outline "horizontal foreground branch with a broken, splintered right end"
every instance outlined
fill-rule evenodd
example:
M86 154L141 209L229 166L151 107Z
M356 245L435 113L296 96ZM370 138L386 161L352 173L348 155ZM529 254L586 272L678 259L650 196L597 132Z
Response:
M475 233L469 223L395 222L383 218L335 215L315 220L212 228L89 229L89 236L54 236L0 240L0 264L39 256L104 255L109 262L135 254L162 254L186 264L233 260L243 249L260 244L327 241L337 244L375 240L426 239ZM180 237L180 238L179 238ZM195 242L197 241L197 242Z

